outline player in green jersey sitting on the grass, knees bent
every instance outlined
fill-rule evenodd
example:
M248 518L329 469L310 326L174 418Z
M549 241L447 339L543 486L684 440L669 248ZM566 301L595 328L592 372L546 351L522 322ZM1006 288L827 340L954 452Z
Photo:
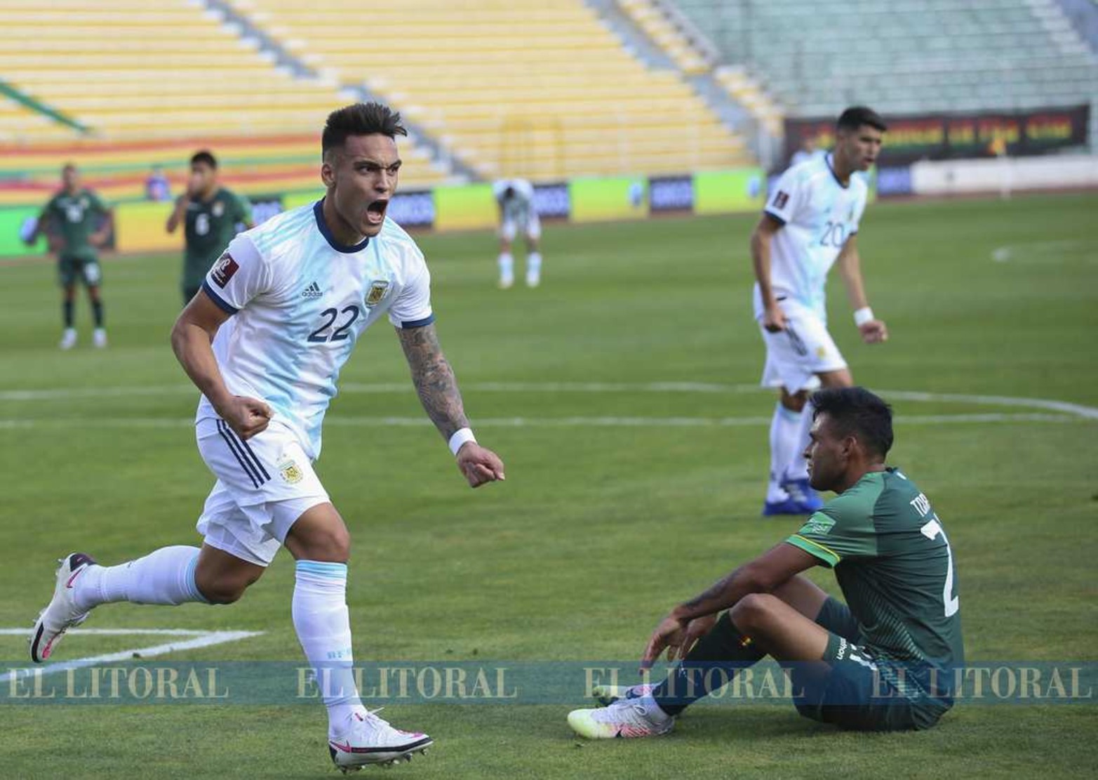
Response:
M952 706L953 668L964 661L953 554L927 497L885 466L892 410L858 387L811 401L811 484L838 495L672 610L641 662L664 649L682 662L656 686L596 690L609 706L569 714L578 734L665 734L687 705L765 655L791 675L800 714L843 728L929 728ZM834 569L845 603L800 576L814 566Z

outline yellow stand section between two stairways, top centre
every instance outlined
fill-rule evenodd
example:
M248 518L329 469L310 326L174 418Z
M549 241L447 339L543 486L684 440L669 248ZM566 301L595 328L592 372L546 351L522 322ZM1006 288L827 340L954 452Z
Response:
M750 161L674 71L580 0L233 0L311 67L365 83L483 177L682 172Z

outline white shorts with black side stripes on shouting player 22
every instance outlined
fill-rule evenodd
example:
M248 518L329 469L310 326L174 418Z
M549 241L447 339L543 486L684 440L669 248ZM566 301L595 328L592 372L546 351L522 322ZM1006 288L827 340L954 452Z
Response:
M211 547L267 566L298 517L329 501L298 437L277 421L245 442L223 420L204 417L195 435L217 478L197 525Z

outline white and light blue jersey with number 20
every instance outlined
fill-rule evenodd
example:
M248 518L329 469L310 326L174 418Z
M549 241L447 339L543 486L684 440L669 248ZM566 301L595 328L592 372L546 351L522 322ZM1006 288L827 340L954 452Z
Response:
M861 176L843 187L831 155L795 165L777 180L765 212L783 224L770 244L774 297L792 299L827 320L825 285L847 239L858 233L867 188ZM762 316L759 286L755 317Z

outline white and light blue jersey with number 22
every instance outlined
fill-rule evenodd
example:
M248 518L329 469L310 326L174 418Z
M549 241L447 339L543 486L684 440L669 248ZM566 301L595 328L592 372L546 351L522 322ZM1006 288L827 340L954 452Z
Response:
M228 391L266 401L310 458L321 453L324 412L362 332L386 312L396 327L434 322L430 274L408 234L386 219L377 236L343 246L323 202L237 235L202 283L233 315L213 342ZM198 419L215 416L203 397Z

